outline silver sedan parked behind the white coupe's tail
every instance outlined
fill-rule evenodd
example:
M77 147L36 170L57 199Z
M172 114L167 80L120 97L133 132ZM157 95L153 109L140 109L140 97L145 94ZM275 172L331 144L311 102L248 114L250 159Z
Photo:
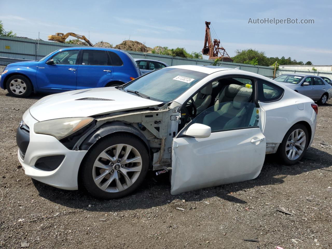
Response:
M290 89L303 94L320 105L325 105L332 97L332 86L315 75L282 74L274 79Z

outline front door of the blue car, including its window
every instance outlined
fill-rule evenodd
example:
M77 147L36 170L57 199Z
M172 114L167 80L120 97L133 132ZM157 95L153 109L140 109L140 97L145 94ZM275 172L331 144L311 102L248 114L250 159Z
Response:
M54 64L38 66L36 80L41 91L68 91L76 89L77 50L64 50L52 56Z

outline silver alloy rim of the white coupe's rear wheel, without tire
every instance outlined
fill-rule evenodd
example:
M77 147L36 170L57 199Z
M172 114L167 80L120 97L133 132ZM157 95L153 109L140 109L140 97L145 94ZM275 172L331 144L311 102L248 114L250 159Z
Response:
M306 143L305 132L302 129L295 129L290 133L286 143L286 155L290 160L296 160L304 151Z

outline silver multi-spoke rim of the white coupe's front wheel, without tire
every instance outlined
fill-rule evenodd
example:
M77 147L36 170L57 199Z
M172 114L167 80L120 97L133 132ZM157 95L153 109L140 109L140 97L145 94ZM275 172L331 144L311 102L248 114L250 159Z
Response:
M116 193L129 188L142 170L142 157L128 144L115 144L99 154L94 162L92 177L103 191Z

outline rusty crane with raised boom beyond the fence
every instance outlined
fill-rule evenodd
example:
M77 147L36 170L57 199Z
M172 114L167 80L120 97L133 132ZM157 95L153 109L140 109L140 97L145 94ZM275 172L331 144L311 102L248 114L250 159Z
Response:
M221 59L226 62L233 62L233 59L229 57L225 48L220 45L220 40L213 39L210 33L210 24L211 22L205 22L205 40L204 40L204 48L202 49L202 53L204 55L208 55L209 59Z

